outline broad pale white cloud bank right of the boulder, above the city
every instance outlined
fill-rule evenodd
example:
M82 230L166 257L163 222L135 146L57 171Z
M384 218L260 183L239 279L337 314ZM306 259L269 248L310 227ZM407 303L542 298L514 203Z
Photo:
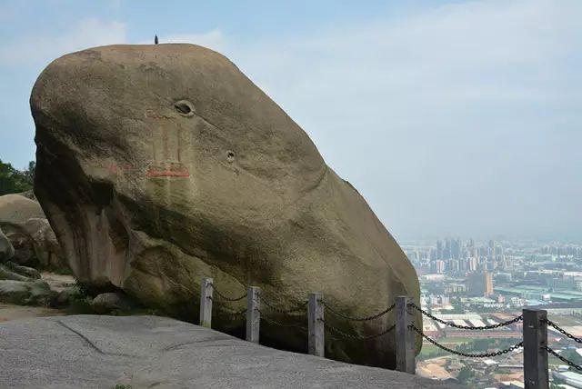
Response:
M561 234L582 209L579 20L575 0L471 1L225 54L396 234Z

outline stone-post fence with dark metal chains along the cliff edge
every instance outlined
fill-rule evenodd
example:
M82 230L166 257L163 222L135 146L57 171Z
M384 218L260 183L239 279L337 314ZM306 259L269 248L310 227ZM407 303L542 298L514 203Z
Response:
M456 354L456 355L459 355L462 357L467 357L467 358L492 358L492 357L496 357L496 356L500 356L500 355L504 355L504 354L509 354L511 352L514 352L514 351L521 352L519 349L523 348L524 349L523 352L525 353L524 354L524 364L528 364L529 366L539 366L542 364L547 364L548 356L552 355L552 356L556 357L562 363L567 364L567 366L569 366L573 370L576 370L577 372L582 373L582 365L578 365L578 364L574 363L573 361L569 360L567 358L567 355L569 355L569 354L561 353L559 350L558 351L553 350L551 347L549 347L547 345L546 334L547 334L548 327L551 327L553 330L556 330L557 333L564 335L565 337L567 337L567 339L572 340L572 341L576 342L577 344L582 344L582 337L578 338L574 334L568 333L564 328L561 328L558 324L552 322L551 320L548 320L547 319L547 311L544 311L544 310L524 308L523 314L519 314L518 316L512 318L511 320L507 320L506 322L497 323L497 324L490 324L490 325L473 326L473 325L455 324L453 322L448 322L448 321L441 319L433 314L430 314L425 309L423 309L421 306L413 303L412 301L414 301L414 300L410 296L397 296L396 297L397 304L392 304L392 305L388 306L385 310L383 310L381 312L377 312L376 314L370 314L367 316L352 316L352 315L340 312L333 305L326 304L326 302L323 300L323 294L320 294L320 293L309 294L308 301L300 301L300 303L296 304L295 306L291 306L289 308L284 308L284 307L281 307L280 305L272 303L273 301L277 302L278 300L269 301L268 299L265 299L262 296L261 289L259 287L249 286L248 290L250 292L252 292L253 294L261 294L260 300L256 299L256 298L252 298L252 299L249 298L248 302L247 302L248 306L246 307L246 309L241 310L241 311L236 311L236 310L230 308L229 306L227 306L228 304L226 304L226 306L225 306L224 303L225 302L239 302L247 297L247 295L248 295L247 293L242 294L241 296L237 296L237 297L229 297L228 295L223 294L220 290L218 290L216 288L216 286L214 284L212 284L211 278L205 278L205 279L203 279L203 282L207 286L211 286L213 288L212 290L214 292L216 292L216 296L219 297L219 299L218 299L219 301L221 301L221 300L223 301L223 303L216 304L216 308L221 314L227 314L227 315L232 315L232 316L239 316L242 314L247 315L246 316L246 318L247 318L246 339L250 342L258 342L261 322L265 322L266 324L272 324L274 326L279 326L279 327L297 328L297 329L301 330L301 333L298 333L298 334L301 334L301 336L303 336L303 334L305 334L305 333L309 333L309 340L308 340L309 353L315 354L318 356L324 356L326 354L324 345L326 344L325 339L327 339L327 338L331 339L332 341L336 341L336 340L341 341L342 339L366 341L369 339L379 338L379 337L384 336L386 334L390 334L396 330L396 324L392 324L392 325L388 326L387 328L382 329L379 333L376 333L376 334L358 334L358 332L360 332L360 330L357 328L355 329L355 328L346 327L346 330L341 330L341 329L337 328L336 326L334 326L332 323L336 323L336 320L338 321L338 323L341 322L341 320L338 320L336 318L344 319L346 321L351 321L351 322L367 322L367 321L371 321L371 320L376 320L376 319L390 313L392 310L396 309L397 314L396 314L395 319L396 319L398 325L404 326L404 328L402 328L402 329L403 330L406 329L406 334L410 334L407 331L413 331L414 333L419 334L420 337L424 341L428 342L429 344L433 344L433 345L437 346L438 349L443 350L447 353ZM206 289L206 287L203 287L202 294L203 294L204 298L201 298L200 323L201 323L201 325L205 325L205 326L209 327L211 324L212 309L208 309L209 307L207 305L204 305L204 304L206 304L206 303L212 304L212 297L210 296L210 294L212 294L212 292L210 290ZM207 299L209 299L210 302L208 302ZM303 312L305 314L306 305L309 304L310 302L312 302L314 304L314 307L313 307L314 309L311 309L312 307L310 305L309 306L310 309L307 311L308 317L306 317L306 319L308 319L307 321L308 321L309 325L307 326L307 325L296 324L296 323L302 323L302 322L300 322L298 320L300 314L294 314L294 313ZM268 314L265 314L265 312L262 312L259 309L259 304L261 304L261 303L264 304L264 308L268 308L266 310L266 312L268 314L274 314L274 316L277 317L278 319L282 319L282 322L279 320L275 320L274 318L272 318ZM288 302L286 302L286 303L279 302L279 304L288 304ZM242 305L242 304L238 304L238 305ZM203 306L206 306L206 309L203 309ZM412 308L412 309L410 309L410 308ZM326 314L331 315L331 316L327 317L328 320L331 317L331 319L332 319L331 321L326 322L326 320L323 318L324 312L326 312ZM439 344L436 339L433 339L433 338L429 337L428 335L426 335L423 332L422 327L418 328L415 324L410 324L410 323L414 323L411 321L413 320L413 316L416 314L416 312L420 313L421 316L424 315L424 316L434 320L435 322L437 322L439 324L444 324L448 327L457 328L460 330L481 330L481 331L482 330L494 330L497 328L506 327L506 326L511 325L511 324L517 324L520 321L524 321L524 329L527 328L527 331L530 331L530 335L524 336L523 341L521 341L517 344L510 345L504 349L494 348L493 350L497 350L497 351L488 351L488 352L484 352L484 353L471 353L470 352L471 350L467 350L467 348L468 348L467 346L455 347L453 345L453 346L448 347L445 344ZM256 320L256 319L259 319L259 317L256 313L260 314L260 321ZM281 316L279 317L276 314L281 314ZM287 316L288 319L292 319L292 320L285 320L286 315L288 315ZM250 320L248 320L249 317L250 317ZM319 318L317 318L317 317L319 317ZM236 319L236 320L238 320L238 319ZM317 322L317 321L319 321L319 322ZM303 322L303 323L305 323L305 322ZM382 323L384 324L385 322L383 321ZM406 328L406 324L408 324L407 328ZM469 322L469 324L472 324L472 323ZM520 328L517 328L517 329L520 329ZM533 331L533 333L532 333L532 331ZM368 331L363 331L363 332L366 333ZM533 336L531 334L537 334L537 337ZM540 334L543 334L544 336L540 336ZM398 348L396 349L396 359L400 358L400 359L398 359L398 361L405 361L398 368L398 370L400 370L402 372L414 374L414 356L415 356L415 348L416 348L415 338L416 338L416 340L418 339L416 336L408 336L408 335L403 336L402 338L396 337L396 344L400 344L400 342L403 342L403 344L398 345ZM525 347L524 347L524 344L525 344ZM451 347L454 347L454 348L451 348ZM463 350L463 351L461 351L461 350ZM469 352L464 352L464 351L469 351ZM577 360L576 358L573 358L573 359ZM409 362L409 361L413 361L413 362ZM528 380L528 382L533 382L533 383L535 382L538 384L539 383L542 384L542 386L535 386L536 388L547 387L547 386L543 386L544 383L547 384L547 372L540 371L540 369L532 369L530 367L529 369L524 369L524 374L525 374L525 377ZM527 374L529 374L529 378L527 378Z

